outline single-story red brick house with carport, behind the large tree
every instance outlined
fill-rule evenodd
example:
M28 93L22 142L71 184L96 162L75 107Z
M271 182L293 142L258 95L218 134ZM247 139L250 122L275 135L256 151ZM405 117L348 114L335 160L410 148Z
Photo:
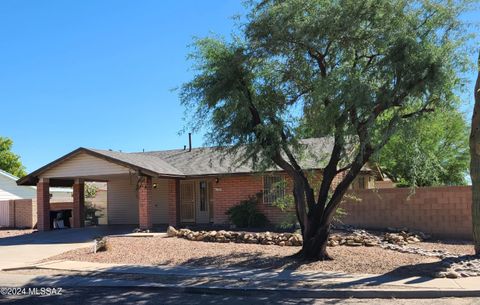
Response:
M313 173L332 149L329 139L306 139L301 166ZM73 226L83 226L83 188L86 181L107 182L108 224L224 224L225 212L240 200L260 196L260 209L273 223L285 216L272 206L285 190L271 192L285 173L272 169L256 172L251 165L235 165L235 158L215 148L124 153L78 148L19 179L19 185L36 185L38 228L49 230L50 187L73 186ZM381 174L366 166L356 187L373 187ZM262 195L263 193L263 195Z

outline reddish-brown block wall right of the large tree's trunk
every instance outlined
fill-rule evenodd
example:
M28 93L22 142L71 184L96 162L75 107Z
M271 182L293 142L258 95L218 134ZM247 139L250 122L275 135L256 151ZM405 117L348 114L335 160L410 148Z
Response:
M405 188L357 190L355 196L361 201L342 203L346 224L372 229L407 227L436 237L472 238L469 186L418 188L413 195Z

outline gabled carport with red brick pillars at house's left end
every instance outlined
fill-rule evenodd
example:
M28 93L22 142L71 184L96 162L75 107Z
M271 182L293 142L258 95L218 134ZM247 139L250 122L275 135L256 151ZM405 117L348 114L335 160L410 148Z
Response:
M37 186L37 228L51 229L50 187L73 188L72 227L84 226L85 182L108 183L109 224L176 225L184 175L159 158L79 148L19 179Z

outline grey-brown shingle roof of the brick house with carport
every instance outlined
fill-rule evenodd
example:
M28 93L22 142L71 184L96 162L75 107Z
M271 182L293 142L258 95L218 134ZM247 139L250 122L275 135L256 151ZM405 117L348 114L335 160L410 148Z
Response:
M297 160L304 169L321 169L326 165L333 147L332 138L301 140L306 149L301 150ZM125 153L111 150L79 148L19 179L19 185L34 185L44 171L56 166L78 153L88 153L148 175L164 177L188 177L202 175L254 173L252 163L239 165L236 156L224 154L217 148L194 148L192 151L177 149L151 152ZM278 171L279 168L272 168ZM368 166L363 168L370 171ZM63 186L63 185L62 185Z

